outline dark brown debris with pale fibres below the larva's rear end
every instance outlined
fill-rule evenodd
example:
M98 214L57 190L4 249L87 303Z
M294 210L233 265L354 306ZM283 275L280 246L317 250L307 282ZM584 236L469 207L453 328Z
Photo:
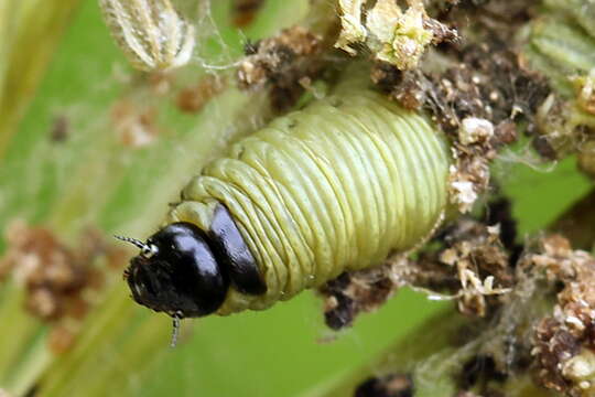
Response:
M441 299L455 299L467 315L493 314L513 285L500 227L463 217L440 232L415 260L391 258L396 287L411 286Z

